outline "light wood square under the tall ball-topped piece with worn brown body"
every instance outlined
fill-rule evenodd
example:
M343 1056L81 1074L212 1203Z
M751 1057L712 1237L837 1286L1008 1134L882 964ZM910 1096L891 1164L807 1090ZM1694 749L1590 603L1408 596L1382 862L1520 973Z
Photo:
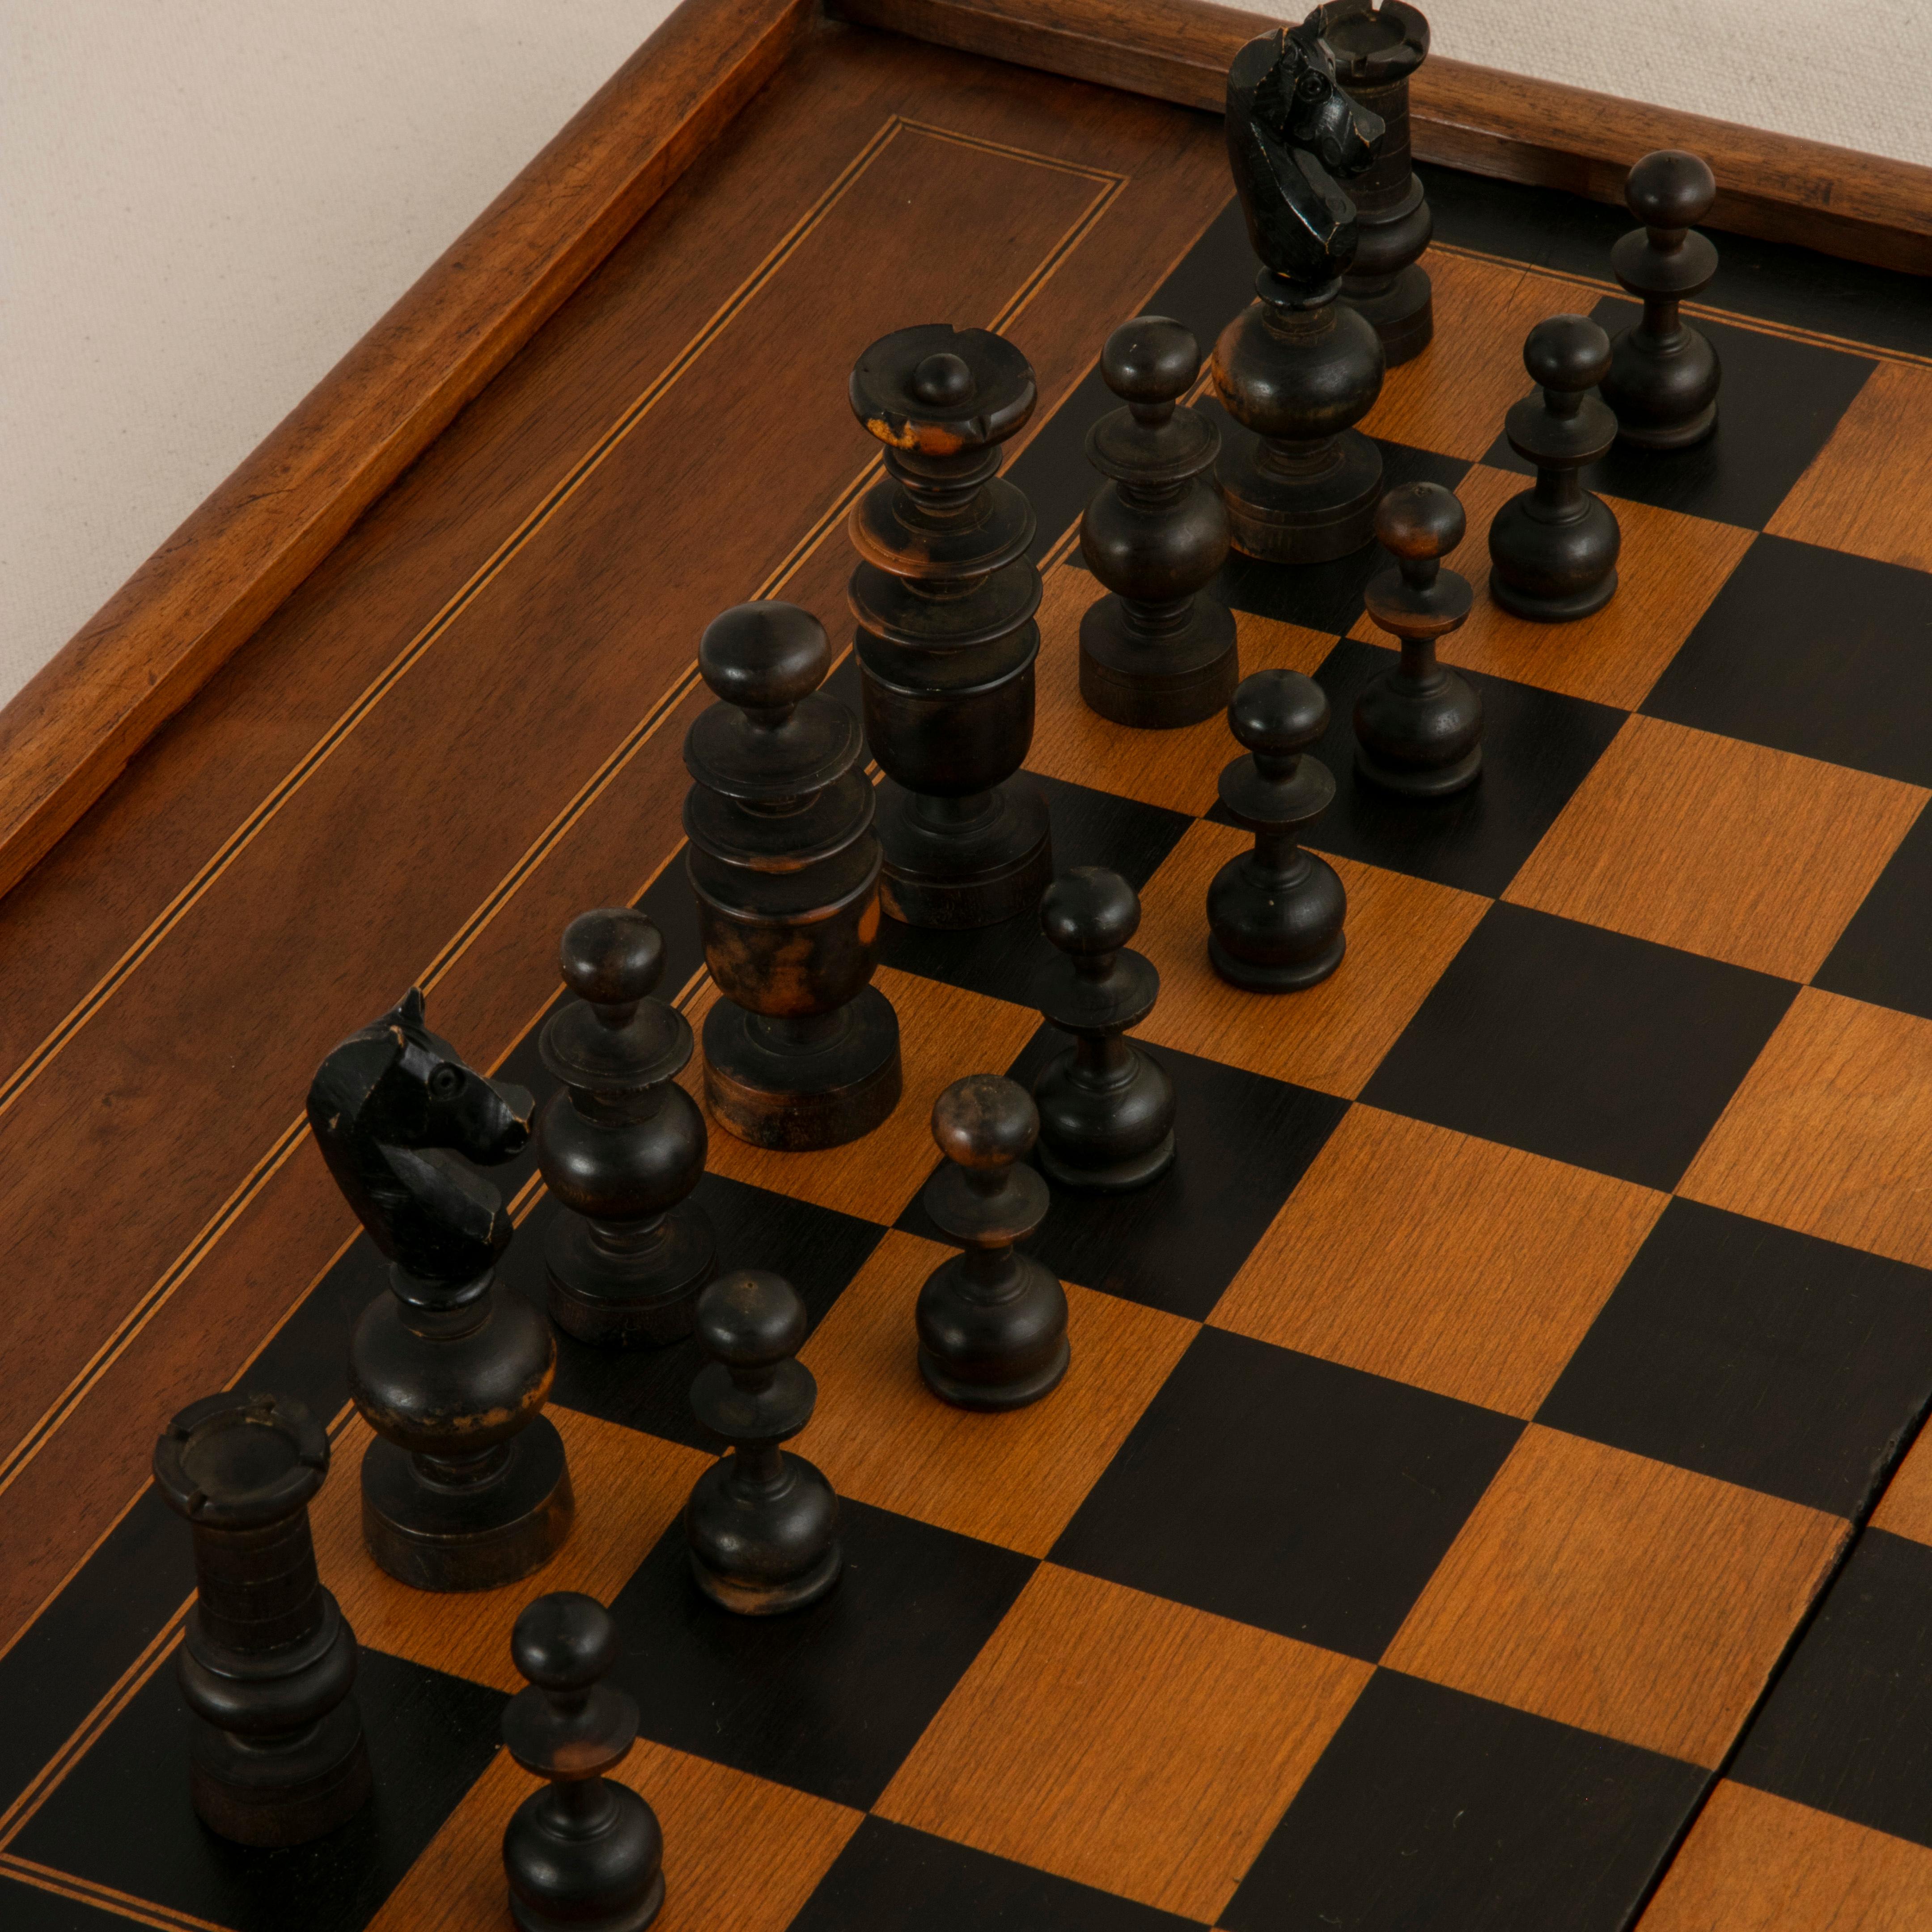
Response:
M705 1107L711 1128L707 1167L773 1194L790 1194L819 1208L893 1223L939 1161L933 1146L933 1101L966 1074L1005 1072L1039 1028L1039 1014L1003 999L968 993L939 980L881 966L875 987L898 1014L898 1057L904 1092L893 1113L860 1140L821 1153L773 1153L726 1132ZM686 1014L699 1049L678 1074L703 1105L703 1024L717 987L707 978Z

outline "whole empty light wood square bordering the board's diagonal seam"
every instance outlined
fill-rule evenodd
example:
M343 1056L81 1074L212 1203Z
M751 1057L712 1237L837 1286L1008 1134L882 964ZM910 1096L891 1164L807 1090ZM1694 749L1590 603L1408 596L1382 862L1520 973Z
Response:
M1383 1663L1716 1766L1847 1532L1532 1422Z

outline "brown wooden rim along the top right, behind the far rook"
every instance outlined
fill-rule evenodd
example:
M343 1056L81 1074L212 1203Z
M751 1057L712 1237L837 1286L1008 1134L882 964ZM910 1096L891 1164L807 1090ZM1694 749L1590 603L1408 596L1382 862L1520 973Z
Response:
M867 27L1209 112L1242 41L1281 25L1208 0L833 4ZM1420 160L1621 201L1633 160L1687 147L1718 174L1714 228L1932 274L1932 168L1461 60L1430 60L1408 100Z

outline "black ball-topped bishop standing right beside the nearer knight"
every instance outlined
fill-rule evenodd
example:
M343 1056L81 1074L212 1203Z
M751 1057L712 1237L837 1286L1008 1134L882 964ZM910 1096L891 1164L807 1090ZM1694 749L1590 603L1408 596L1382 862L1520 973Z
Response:
M665 941L630 906L564 927L564 985L578 997L543 1026L537 1051L564 1082L537 1113L537 1165L562 1211L543 1244L551 1320L616 1349L692 1331L717 1236L686 1196L705 1171L705 1117L676 1084L690 1022L651 999Z

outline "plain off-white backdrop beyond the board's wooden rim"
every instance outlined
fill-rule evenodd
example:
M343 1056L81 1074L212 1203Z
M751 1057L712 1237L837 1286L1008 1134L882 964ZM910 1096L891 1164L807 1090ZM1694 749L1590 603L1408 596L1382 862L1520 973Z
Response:
M668 6L0 0L0 699ZM1424 6L1457 60L1932 162L1932 0Z

